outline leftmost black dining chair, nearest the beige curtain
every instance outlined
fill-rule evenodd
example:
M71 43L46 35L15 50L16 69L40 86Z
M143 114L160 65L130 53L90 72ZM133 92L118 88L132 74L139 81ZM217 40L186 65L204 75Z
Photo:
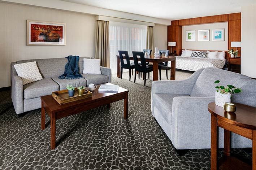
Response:
M134 63L130 62L128 51L118 51L118 53L121 61L121 78L123 76L123 69L129 69L129 81L131 81L131 71L135 68ZM126 63L124 62L123 55L126 58Z

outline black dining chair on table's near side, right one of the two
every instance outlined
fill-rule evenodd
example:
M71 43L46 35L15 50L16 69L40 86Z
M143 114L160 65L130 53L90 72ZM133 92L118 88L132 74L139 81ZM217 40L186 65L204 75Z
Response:
M138 63L138 56L140 57L140 64ZM144 52L140 51L133 51L133 60L134 60L134 65L135 65L135 72L138 71L140 73L143 73L143 78L144 78L144 86L146 86L146 78L147 78L147 73L149 75L149 72L153 71L152 66L148 66L146 64L146 59L144 57ZM136 81L136 74L134 74L134 83Z

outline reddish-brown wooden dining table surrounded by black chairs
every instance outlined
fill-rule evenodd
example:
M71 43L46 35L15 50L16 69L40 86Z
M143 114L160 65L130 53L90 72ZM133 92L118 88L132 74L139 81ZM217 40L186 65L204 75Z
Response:
M117 57L117 77L121 77L121 61L119 55ZM130 60L134 60L133 56L129 55ZM123 56L123 59L126 59L125 56ZM162 62L171 62L171 74L170 74L170 80L175 80L175 69L176 69L176 57L171 56L155 56L155 55L145 55L146 62L153 63L153 81L158 80L158 64ZM138 60L140 61L140 58L138 57Z

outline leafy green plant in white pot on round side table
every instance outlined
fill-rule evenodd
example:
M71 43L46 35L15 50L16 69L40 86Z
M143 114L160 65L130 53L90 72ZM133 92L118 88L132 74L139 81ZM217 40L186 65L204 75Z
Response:
M214 83L220 83L220 80L216 80ZM231 102L231 93L240 93L242 90L240 88L236 88L233 85L228 84L226 87L224 86L216 86L217 91L215 92L215 104L223 107L226 102Z

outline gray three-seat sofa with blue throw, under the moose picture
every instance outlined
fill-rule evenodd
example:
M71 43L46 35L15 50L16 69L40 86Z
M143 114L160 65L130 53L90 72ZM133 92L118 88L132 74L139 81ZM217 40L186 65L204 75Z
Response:
M100 67L101 74L82 74L83 58L94 59L93 57L79 58L79 73L81 79L58 79L65 70L67 58L49 58L37 60L21 60L11 63L11 97L15 112L21 114L30 110L41 108L41 96L51 95L53 91L65 90L67 84L75 87L88 86L90 83L102 84L111 83L111 69ZM23 86L21 78L14 69L15 64L36 61L43 79Z

